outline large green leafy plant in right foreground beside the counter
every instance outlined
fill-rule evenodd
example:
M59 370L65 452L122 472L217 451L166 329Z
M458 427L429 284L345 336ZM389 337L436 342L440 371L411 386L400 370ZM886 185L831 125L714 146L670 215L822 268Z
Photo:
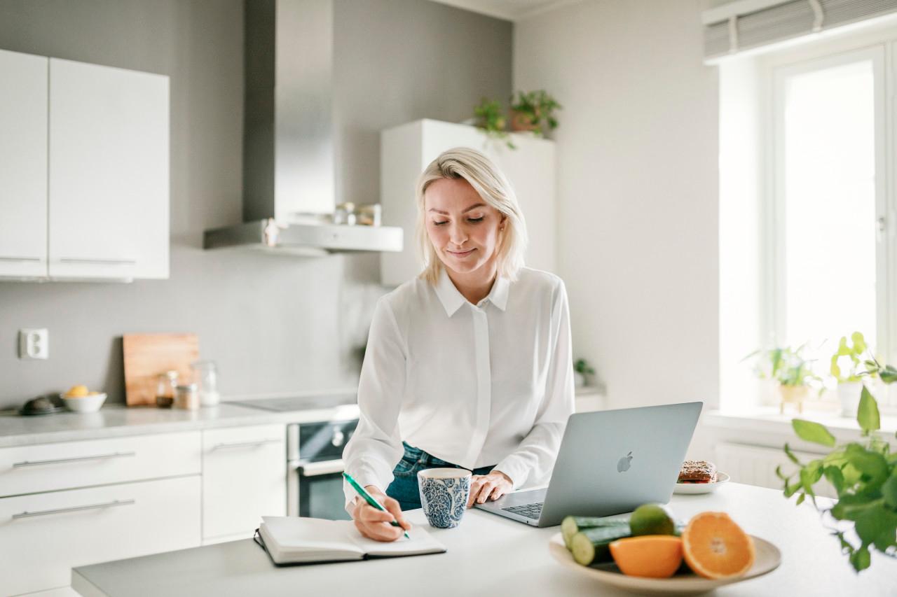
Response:
M871 365L867 372L874 369L885 384L897 381L897 369L890 365L882 368L875 359L867 363ZM785 454L799 470L786 476L776 467L776 475L785 484L785 497L798 493L799 505L809 496L817 510L841 522L839 528L832 529L832 536L859 572L871 564L870 549L897 558L897 454L891 454L888 443L876 433L881 428L878 403L866 387L860 395L857 422L863 439L836 447L835 437L823 425L792 420L797 437L835 449L823 458L801 463L786 444ZM813 487L823 477L838 493L838 502L831 508L816 503ZM848 528L851 523L852 531Z

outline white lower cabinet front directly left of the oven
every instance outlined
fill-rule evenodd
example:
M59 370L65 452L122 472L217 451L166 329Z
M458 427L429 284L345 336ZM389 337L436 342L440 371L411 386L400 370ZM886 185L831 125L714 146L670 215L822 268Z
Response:
M203 543L248 539L262 516L285 515L285 426L205 430Z

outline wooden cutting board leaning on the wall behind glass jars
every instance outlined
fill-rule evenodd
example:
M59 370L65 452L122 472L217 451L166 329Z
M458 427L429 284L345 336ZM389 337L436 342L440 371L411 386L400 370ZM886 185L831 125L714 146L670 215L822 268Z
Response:
M155 406L159 374L177 371L183 383L191 375L190 364L199 359L195 333L126 333L122 346L128 406Z

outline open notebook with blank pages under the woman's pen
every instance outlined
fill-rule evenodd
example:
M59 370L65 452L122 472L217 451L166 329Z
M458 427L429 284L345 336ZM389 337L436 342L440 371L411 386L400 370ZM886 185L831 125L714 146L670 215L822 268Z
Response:
M410 539L384 543L362 537L352 521L262 516L257 542L277 565L419 556L446 550L420 526L413 526L408 536Z

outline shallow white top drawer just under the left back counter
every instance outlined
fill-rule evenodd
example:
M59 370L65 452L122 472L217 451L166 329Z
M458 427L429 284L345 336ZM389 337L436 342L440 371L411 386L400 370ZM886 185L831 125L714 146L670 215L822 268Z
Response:
M0 497L202 471L200 431L0 449Z

